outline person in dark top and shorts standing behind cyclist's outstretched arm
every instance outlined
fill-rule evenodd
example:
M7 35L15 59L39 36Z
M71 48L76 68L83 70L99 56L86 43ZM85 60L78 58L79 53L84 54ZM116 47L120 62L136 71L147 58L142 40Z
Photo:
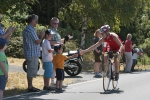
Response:
M94 44L96 44L99 40L100 40L100 29L97 29L94 33L94 38L93 38L93 42ZM95 57L95 62L94 62L94 73L95 76L94 77L101 77L102 74L99 72L99 68L100 68L100 55L102 54L102 45L100 45L99 47L97 47L96 49L94 49L93 53L94 53L94 57Z

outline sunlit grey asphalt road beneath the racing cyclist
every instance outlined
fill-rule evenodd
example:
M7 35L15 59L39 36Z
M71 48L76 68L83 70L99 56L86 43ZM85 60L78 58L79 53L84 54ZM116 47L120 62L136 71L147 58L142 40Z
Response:
M149 77L150 70L120 74L118 89L109 92L103 91L102 78L95 78L69 85L63 93L41 91L5 97L4 100L150 100Z

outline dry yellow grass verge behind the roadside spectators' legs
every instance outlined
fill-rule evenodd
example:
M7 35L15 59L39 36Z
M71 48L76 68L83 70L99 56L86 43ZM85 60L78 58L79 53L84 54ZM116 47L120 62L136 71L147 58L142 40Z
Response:
M66 78L64 84L74 83L74 79ZM33 86L43 89L43 76L37 76L33 79ZM4 96L17 95L25 93L27 90L26 73L9 72L8 82L4 91Z

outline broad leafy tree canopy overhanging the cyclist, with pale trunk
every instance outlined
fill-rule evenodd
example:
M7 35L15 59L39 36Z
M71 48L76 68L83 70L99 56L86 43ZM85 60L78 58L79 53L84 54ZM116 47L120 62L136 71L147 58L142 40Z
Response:
M133 21L141 6L141 1L72 0L68 7L62 7L59 10L59 17L74 29L83 29L83 23L85 23L83 19L86 19L86 28L88 30L96 30L107 23L113 30L119 32L120 25L127 26Z

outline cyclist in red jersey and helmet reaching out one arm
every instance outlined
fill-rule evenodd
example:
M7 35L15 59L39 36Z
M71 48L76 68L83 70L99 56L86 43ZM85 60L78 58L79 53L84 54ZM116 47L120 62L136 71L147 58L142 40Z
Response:
M100 46L103 42L107 43L107 45L109 45L109 47L112 51L117 52L117 56L114 59L114 63L115 63L115 72L116 72L115 80L118 80L119 79L119 60L118 59L120 58L121 53L123 51L122 41L116 33L110 32L110 26L109 25L102 26L100 28L100 33L102 34L102 38L96 44L90 46L89 48L87 48L85 50L81 50L80 54L82 55L86 52L94 50L95 48ZM104 62L107 63L108 56L106 56L104 58L104 60L105 60Z

